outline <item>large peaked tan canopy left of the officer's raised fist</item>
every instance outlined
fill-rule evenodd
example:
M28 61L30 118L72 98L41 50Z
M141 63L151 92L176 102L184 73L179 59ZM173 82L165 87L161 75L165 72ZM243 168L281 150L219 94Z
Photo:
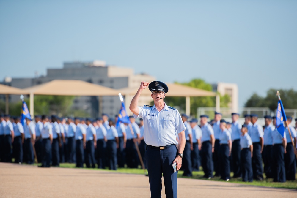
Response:
M112 88L87 83L82 80L52 80L33 87L25 88L30 94L30 113L34 113L34 95L55 95L55 96L117 96L118 91ZM101 107L101 105L99 105ZM99 110L100 112L100 110Z

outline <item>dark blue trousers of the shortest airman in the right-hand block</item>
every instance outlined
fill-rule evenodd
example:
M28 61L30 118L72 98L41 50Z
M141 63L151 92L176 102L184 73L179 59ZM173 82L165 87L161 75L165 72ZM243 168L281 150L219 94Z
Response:
M243 148L240 152L242 181L253 181L252 170L252 156L251 151L248 148Z

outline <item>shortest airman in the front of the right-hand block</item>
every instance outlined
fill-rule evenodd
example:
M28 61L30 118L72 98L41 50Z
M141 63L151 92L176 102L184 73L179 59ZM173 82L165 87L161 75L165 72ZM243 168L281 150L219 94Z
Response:
M240 161L242 167L242 181L253 181L253 170L252 170L252 155L253 155L253 142L248 134L249 126L244 124L241 126L241 137L240 137Z

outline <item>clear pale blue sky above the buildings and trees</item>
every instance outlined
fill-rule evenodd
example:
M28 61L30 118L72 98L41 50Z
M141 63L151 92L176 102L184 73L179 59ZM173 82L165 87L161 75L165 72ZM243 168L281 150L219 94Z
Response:
M105 60L163 82L297 90L297 1L0 1L0 81Z

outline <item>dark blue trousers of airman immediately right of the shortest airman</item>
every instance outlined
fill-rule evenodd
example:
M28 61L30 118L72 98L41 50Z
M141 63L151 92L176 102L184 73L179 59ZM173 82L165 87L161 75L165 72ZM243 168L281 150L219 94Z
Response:
M252 167L253 167L254 179L257 179L257 178L263 179L263 166L262 166L260 142L253 143Z

